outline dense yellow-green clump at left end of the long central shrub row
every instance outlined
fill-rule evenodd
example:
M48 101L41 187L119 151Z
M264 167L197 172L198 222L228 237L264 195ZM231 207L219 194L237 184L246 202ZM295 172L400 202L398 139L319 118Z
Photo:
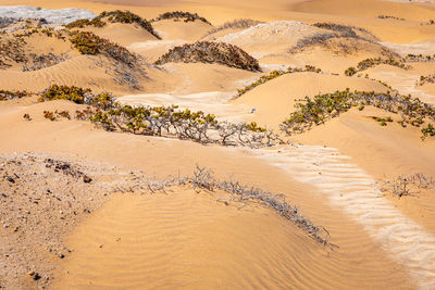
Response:
M75 103L85 103L87 94L90 93L90 89L83 89L75 86L59 86L52 85L42 91L38 99L38 102L53 101L53 100L69 100Z

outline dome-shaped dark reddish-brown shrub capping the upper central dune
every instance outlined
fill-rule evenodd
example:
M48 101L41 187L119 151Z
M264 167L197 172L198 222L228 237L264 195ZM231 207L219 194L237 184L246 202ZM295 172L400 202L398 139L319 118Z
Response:
M258 61L243 49L224 42L198 41L175 47L159 58L157 65L169 62L220 63L229 67L260 72Z

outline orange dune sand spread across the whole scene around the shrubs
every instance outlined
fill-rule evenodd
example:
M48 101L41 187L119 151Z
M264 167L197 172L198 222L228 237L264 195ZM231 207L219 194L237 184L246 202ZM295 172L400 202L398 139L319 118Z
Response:
M387 52L433 54L435 26L426 24L435 18L431 3L4 0L2 4L77 8L97 14L121 9L148 20L183 10L212 23L154 22L162 40L135 24L80 28L137 53L140 61L135 67L102 54L79 54L67 41L34 35L27 40L27 54L66 53L67 59L33 72L23 72L18 62L0 70L4 90L38 93L52 84L74 85L112 92L123 104L176 104L215 114L220 121L256 122L276 133L300 99L347 88L395 89L435 103L434 84L417 85L421 75L432 74L435 62L407 63L409 70L378 65L352 77L344 74L361 60L384 58ZM381 14L405 20L378 18ZM171 48L203 39L213 27L241 17L264 23L204 39L239 46L259 60L262 72L217 63L153 64ZM338 38L291 51L300 39L332 33L312 26L315 22L362 27L377 40ZM286 74L237 97L238 89L261 75L306 65L322 73ZM117 80L127 73L137 79L137 87ZM435 187L401 198L382 190L385 180L399 175L434 176L435 140L421 140L421 127L402 128L397 114L352 108L303 134L283 136L287 144L262 149L105 131L86 121L44 117L45 111L67 110L73 115L85 108L65 100L40 103L37 96L0 101L0 289L435 287ZM23 118L25 114L30 121ZM373 116L391 116L395 122L380 126ZM92 180L87 184L63 169L55 172L46 159L72 164ZM223 191L194 190L191 185L164 191L144 186L191 175L196 165L211 168L221 180L282 193L303 217L328 231L330 247L258 202L227 202ZM61 201L53 203L47 189ZM22 212L29 212L26 218ZM36 274L40 279L34 279Z

